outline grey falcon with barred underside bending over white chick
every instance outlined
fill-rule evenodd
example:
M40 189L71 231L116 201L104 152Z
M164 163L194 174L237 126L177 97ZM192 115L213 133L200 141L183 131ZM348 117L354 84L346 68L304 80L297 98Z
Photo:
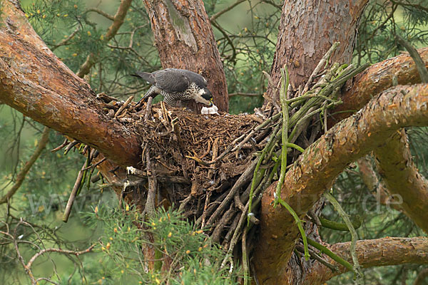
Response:
M195 100L208 106L213 105L213 96L207 89L207 81L198 73L184 69L166 68L153 73L138 71L133 76L143 78L152 84L141 100L146 100L149 97L154 98L161 94L163 101L173 107L178 107L180 100Z

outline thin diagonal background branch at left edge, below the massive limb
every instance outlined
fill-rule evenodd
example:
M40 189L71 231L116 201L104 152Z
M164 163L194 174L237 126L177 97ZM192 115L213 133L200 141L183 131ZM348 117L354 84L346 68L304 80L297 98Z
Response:
M27 173L30 171L31 166L34 165L34 162L36 162L37 158L41 155L42 150L46 147L46 145L49 142L49 131L50 129L48 127L45 127L43 130L43 133L41 135L41 139L39 143L37 144L36 150L34 151L33 155L31 155L29 161L27 161L24 165L24 167L21 169L21 171L16 176L16 181L14 185L11 187L11 189L4 195L3 197L0 197L0 204L4 204L11 199L12 196L16 193L16 191L19 190L19 187L21 187L22 182L24 182L25 177Z

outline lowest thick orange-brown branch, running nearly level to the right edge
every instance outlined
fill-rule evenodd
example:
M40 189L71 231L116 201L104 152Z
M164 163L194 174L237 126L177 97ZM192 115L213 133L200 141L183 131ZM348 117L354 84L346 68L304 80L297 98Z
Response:
M382 239L360 240L355 246L358 261L363 268L372 266L387 266L397 264L428 264L428 238L427 237L384 237ZM350 242L333 244L330 250L339 254L347 261L350 257ZM327 261L339 265L326 257ZM332 272L326 266L317 263L305 278L302 284L325 284L333 276L346 272L347 269L339 266L339 271Z

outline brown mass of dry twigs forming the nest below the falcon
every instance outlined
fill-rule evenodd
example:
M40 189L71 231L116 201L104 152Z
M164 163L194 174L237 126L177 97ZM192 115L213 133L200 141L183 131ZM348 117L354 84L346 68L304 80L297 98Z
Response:
M156 175L187 180L194 197L206 191L220 191L225 180L245 170L251 154L258 150L255 144L248 143L215 162L233 140L253 128L254 115L199 115L163 103L152 106L151 118L146 122L145 113L143 108L138 113L141 120L135 123L141 134L142 157L150 152ZM144 159L142 162L146 165Z

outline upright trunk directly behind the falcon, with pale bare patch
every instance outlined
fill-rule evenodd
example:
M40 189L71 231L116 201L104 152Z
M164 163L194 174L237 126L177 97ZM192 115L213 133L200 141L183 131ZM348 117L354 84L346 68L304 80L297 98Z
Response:
M208 81L214 104L228 112L228 89L213 29L201 0L145 0L163 68L183 68ZM190 104L200 113L200 105Z

